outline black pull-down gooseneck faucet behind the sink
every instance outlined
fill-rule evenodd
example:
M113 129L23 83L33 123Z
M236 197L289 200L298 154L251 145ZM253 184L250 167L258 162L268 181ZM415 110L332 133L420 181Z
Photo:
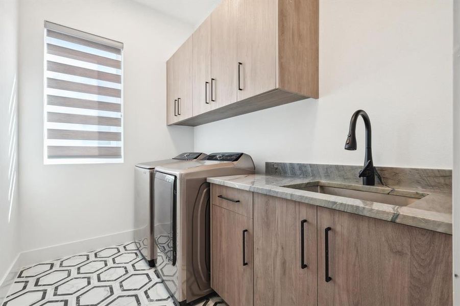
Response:
M366 156L364 159L364 168L359 171L359 177L362 177L362 185L375 185L375 170L372 162L372 145L371 145L371 120L368 114L363 110L357 110L351 116L350 130L348 131L347 141L345 142L346 150L356 150L356 121L361 116L366 126Z

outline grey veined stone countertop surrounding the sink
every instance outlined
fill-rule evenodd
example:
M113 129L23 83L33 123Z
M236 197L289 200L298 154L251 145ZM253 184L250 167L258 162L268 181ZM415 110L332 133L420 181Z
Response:
M452 234L452 194L446 190L389 186L388 184L363 186L356 182L349 183L344 180L324 180L324 177L318 179L318 177L278 174L209 177L207 180L212 184L277 196L311 205ZM314 185L410 196L417 199L408 205L397 206L292 188L308 189L309 186ZM290 186L291 188L283 186Z

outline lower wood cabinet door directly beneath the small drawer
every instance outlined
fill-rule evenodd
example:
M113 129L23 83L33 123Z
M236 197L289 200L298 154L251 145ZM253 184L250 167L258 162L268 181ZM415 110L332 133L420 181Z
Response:
M212 205L211 287L230 306L253 304L252 219Z

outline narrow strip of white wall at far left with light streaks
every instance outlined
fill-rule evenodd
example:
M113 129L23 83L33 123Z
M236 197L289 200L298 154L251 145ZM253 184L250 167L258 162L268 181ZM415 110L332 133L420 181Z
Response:
M0 284L19 253L17 164L18 3L0 2ZM3 289L3 288L2 288ZM0 303L4 297L0 289Z

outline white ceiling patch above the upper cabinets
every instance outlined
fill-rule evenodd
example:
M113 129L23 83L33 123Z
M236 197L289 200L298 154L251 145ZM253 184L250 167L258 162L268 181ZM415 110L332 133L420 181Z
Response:
M221 0L134 0L158 12L190 24L193 28L212 12Z

